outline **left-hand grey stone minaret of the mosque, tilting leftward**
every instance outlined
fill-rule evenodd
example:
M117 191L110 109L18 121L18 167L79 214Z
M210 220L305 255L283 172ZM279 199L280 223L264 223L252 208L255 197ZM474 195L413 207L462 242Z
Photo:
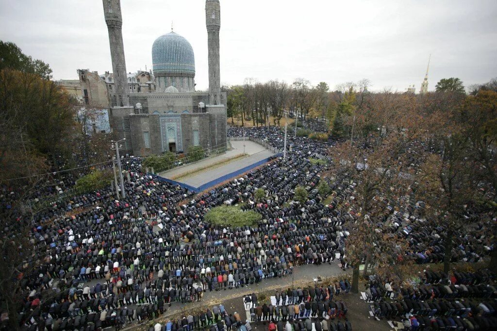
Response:
M114 72L114 95L112 105L129 106L128 78L122 34L121 0L102 0L105 23L109 30L110 56Z

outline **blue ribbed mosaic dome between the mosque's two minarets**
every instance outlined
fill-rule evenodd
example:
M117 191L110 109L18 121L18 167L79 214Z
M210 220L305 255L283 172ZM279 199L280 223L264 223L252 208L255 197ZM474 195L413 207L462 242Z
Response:
M152 45L152 66L156 77L195 77L193 48L175 32L162 35Z

